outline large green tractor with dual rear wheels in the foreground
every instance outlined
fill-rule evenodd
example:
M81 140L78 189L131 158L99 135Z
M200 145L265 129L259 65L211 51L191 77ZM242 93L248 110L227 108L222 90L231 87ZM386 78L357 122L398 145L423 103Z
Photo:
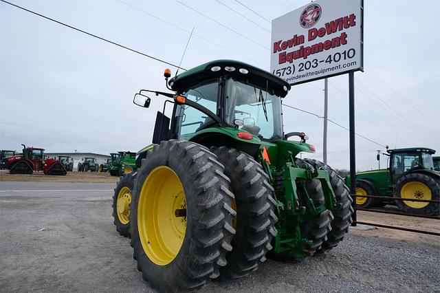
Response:
M137 268L162 292L193 291L210 279L238 279L266 253L309 257L342 241L351 197L303 132L283 131L288 83L231 60L212 61L171 79L153 144L137 153L131 193L115 193L115 223L129 226ZM169 80L168 80L169 79ZM298 141L289 140L298 138ZM118 189L118 186L117 186Z

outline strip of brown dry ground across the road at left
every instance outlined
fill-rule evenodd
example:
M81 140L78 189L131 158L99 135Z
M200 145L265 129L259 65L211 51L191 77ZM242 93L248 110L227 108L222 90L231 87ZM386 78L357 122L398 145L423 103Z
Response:
M67 172L67 175L44 175L43 172L34 174L10 174L7 170L0 170L0 182L89 182L115 183L118 176L99 172Z

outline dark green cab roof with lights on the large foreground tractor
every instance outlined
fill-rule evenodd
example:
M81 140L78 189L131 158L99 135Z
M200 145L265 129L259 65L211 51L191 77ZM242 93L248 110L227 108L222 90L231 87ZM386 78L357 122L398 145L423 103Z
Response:
M219 70L212 71L213 67L219 67ZM234 67L234 71L226 71L225 67ZM243 72L247 73L243 74ZM268 87L269 89L274 90L274 94L281 97L285 97L290 89L289 83L278 78L278 76L274 76L274 74L271 74L270 72L240 61L228 59L211 61L189 69L188 71L171 78L168 85L170 85L173 90L182 92L192 85L196 85L197 83L212 78L218 78L222 75L232 76L233 78L241 80L248 80L250 83L259 85L263 89Z

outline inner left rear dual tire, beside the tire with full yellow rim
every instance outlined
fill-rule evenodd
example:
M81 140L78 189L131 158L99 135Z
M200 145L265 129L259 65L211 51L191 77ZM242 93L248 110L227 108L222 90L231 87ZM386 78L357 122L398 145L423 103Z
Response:
M226 254L228 265L221 268L225 279L239 279L257 270L265 261L265 254L272 250L271 241L278 220L272 197L274 188L261 165L247 153L225 146L212 147L219 161L225 166L225 174L231 179L231 190L236 210L233 225L236 234L232 238L232 251Z

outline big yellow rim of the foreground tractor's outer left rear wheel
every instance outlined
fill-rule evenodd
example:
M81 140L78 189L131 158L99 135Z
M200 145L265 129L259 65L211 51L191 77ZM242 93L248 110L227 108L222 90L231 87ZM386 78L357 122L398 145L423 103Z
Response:
M137 205L139 238L148 259L167 265L180 251L186 232L186 197L177 174L168 166L151 171Z

